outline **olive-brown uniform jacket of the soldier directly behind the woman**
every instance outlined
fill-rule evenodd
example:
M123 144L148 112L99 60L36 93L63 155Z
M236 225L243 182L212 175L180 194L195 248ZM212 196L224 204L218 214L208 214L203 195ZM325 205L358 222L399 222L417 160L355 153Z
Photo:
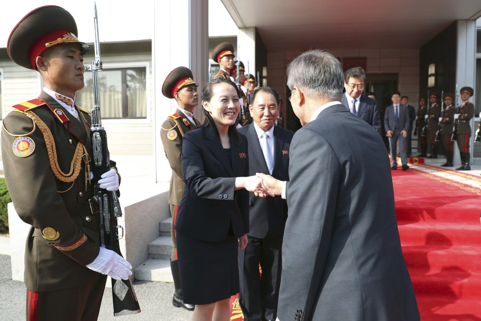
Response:
M198 119L195 119L196 125L200 124ZM165 156L169 160L172 168L172 177L170 179L169 189L169 204L179 206L182 200L185 183L182 176L182 162L180 155L182 154L182 137L183 135L194 128L187 117L179 110L176 110L174 115L169 116L160 129L160 139L164 146Z

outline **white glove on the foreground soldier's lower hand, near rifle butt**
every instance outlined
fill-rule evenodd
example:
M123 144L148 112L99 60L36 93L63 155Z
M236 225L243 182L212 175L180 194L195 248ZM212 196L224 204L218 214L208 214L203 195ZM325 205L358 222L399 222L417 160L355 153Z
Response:
M132 265L123 257L112 250L100 247L98 256L86 265L90 270L107 274L112 279L127 280L132 275Z

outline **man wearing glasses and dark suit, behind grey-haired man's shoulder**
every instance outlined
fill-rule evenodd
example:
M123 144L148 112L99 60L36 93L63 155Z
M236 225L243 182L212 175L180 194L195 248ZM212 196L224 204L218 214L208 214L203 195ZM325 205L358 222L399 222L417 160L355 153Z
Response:
M344 75L346 92L342 95L342 104L381 134L381 116L377 102L362 95L365 81L366 73L361 67L347 70Z

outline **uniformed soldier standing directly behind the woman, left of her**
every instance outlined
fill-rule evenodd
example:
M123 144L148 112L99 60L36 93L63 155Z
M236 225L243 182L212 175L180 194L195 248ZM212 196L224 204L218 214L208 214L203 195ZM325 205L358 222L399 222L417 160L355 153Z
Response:
M164 146L165 156L167 160L169 160L170 167L172 168L169 189L170 215L172 216L170 232L173 245L170 268L175 287L172 303L175 307L182 307L189 311L194 310L194 305L183 302L174 225L177 221L177 213L179 212L180 201L182 200L182 194L185 188L182 164L180 162L182 137L187 131L200 125L200 121L194 117L194 109L199 102L197 95L198 86L199 84L193 80L192 71L189 68L177 67L171 71L162 85L162 95L170 99L175 99L178 108L175 114L170 115L164 121L160 129L160 138Z

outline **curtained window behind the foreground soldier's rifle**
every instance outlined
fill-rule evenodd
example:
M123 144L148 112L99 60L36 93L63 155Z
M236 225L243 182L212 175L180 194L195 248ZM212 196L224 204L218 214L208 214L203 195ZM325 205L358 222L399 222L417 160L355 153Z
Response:
M147 118L147 71L145 67L111 68L98 72L102 119ZM77 104L93 107L92 73L85 72L85 88L77 94Z

